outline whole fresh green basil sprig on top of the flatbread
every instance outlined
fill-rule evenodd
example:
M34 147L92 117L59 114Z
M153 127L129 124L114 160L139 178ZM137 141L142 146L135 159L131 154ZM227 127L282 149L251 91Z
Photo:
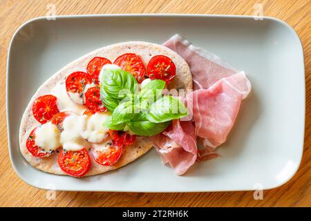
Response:
M129 128L136 135L151 136L164 131L172 119L188 115L179 99L162 95L165 81L155 79L142 86L121 68L107 68L100 73L100 95L112 112L106 126L112 130Z

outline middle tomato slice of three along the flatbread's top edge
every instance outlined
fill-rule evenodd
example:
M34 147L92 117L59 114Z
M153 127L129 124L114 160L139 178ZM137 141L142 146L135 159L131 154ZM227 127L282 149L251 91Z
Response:
M120 66L123 70L131 73L138 83L144 80L144 63L142 59L133 53L127 53L117 57L113 64Z

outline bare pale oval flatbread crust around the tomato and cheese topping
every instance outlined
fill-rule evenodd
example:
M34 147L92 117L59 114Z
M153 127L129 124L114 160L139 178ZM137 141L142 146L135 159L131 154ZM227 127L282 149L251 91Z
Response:
M91 61L93 57L106 57L111 61L114 61L120 55L129 52L139 55L142 58L142 61L144 61L145 66L147 66L151 57L155 55L167 55L173 60L174 64L176 65L176 77L173 79L171 84L169 84L169 88L192 88L192 75L187 62L173 50L158 44L144 41L129 41L106 46L104 48L97 49L89 53L88 55L84 55L83 57L68 64L57 73L55 73L52 77L50 77L47 81L45 81L44 84L42 84L38 88L35 95L33 95L33 97L30 99L30 102L26 107L25 112L23 113L19 128L19 146L21 154L32 166L44 172L54 173L58 175L67 175L59 168L57 164L58 153L50 155L50 157L39 158L34 157L26 148L26 140L28 138L28 135L33 128L40 125L39 122L37 122L35 117L33 117L32 115L32 104L35 99L39 96L50 94L50 90L54 88L58 83L64 83L66 77L70 75L70 73L78 70L86 72L86 66L88 64L88 61ZM147 153L147 151L149 151L152 146L153 145L151 144L149 137L136 137L135 144L123 148L120 159L113 166L102 166L100 164L97 164L97 162L95 162L95 160L93 159L92 149L90 149L88 153L91 157L92 165L86 175L97 175L100 173L106 173L108 171L118 169L121 166L129 164L133 160L144 155L144 153Z

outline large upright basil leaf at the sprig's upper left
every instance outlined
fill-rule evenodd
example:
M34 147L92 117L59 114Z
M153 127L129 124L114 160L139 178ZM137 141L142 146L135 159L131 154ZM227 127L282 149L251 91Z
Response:
M112 112L124 97L138 92L138 83L121 68L104 68L100 73L100 88L102 102Z

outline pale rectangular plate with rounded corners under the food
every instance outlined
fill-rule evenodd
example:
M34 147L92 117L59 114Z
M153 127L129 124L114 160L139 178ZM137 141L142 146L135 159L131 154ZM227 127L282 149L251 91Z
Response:
M252 93L242 102L222 157L184 176L161 164L155 150L116 171L77 179L34 169L19 152L19 121L50 75L92 50L122 41L162 44L174 34L245 70ZM6 105L10 159L17 174L42 189L191 192L272 189L296 173L303 153L305 76L296 32L274 18L221 15L86 15L23 24L8 53Z

